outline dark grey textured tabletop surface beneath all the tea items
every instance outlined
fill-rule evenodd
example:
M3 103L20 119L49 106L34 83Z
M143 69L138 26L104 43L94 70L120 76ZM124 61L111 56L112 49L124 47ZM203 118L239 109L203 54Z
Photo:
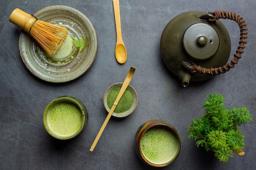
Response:
M15 8L34 13L62 4L78 9L94 24L99 40L96 60L90 70L63 84L44 82L22 63L20 29L11 24ZM116 29L112 0L5 0L0 2L0 169L1 170L143 170L151 168L135 154L133 138L141 124L151 119L170 122L180 133L182 150L177 160L163 170L253 170L256 168L256 28L255 0L120 0L122 35L128 59L115 60ZM192 10L226 10L241 15L248 27L248 43L242 59L231 71L187 88L164 65L159 42L166 24L176 15ZM231 37L231 58L239 42L239 27L221 20ZM229 61L230 61L229 60ZM130 66L136 68L130 82L138 105L125 119L110 119L96 148L90 152L107 112L103 94L112 84L124 81ZM220 93L227 108L248 108L254 120L240 127L245 136L245 155L234 154L227 163L197 148L187 139L193 118L201 116L204 95ZM88 108L85 131L70 141L53 139L45 131L45 106L62 95L79 98Z

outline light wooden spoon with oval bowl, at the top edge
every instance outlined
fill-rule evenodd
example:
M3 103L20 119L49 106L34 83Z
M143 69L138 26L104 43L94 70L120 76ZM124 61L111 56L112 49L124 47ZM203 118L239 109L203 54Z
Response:
M113 6L114 6L116 30L117 30L116 59L117 59L117 62L119 62L120 64L123 64L124 62L126 62L127 52L122 39L119 0L113 0Z

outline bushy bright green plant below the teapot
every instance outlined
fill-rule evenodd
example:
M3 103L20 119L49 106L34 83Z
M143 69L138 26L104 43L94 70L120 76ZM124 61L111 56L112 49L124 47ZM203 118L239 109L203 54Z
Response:
M225 98L220 94L206 95L203 117L193 119L189 126L188 139L194 138L197 147L213 151L214 156L222 162L227 162L233 156L233 151L243 155L245 146L242 131L238 126L252 121L252 115L247 108L225 108Z

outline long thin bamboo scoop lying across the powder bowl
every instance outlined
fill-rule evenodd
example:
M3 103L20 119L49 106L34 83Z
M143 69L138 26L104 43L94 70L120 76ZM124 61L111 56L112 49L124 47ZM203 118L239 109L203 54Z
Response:
M124 83L123 83L123 85L121 86L121 89L120 89L120 91L119 91L119 93L118 93L118 95L117 95L117 99L115 100L115 102L114 102L112 108L110 109L110 111L109 111L109 113L108 113L108 116L106 117L105 121L103 122L103 125L101 126L101 129L99 130L98 135L96 136L96 138L94 139L94 142L92 143L92 146L91 146L91 148L90 148L90 151L91 151L91 152L94 150L94 148L95 148L97 142L99 141L99 138L101 137L101 134L102 134L104 128L106 127L106 125L107 125L107 123L108 123L108 121L109 121L109 119L110 119L112 113L114 112L114 110L115 110L115 108L116 108L116 106L117 106L119 100L121 99L122 95L124 94L124 91L125 91L126 88L128 87L128 85L129 85L129 83L130 83L130 81L131 81L131 79L132 79L132 76L133 76L134 72L135 72L135 68L134 68L134 67L131 67L131 68L130 68L130 71L129 71L128 75L126 76L126 79L124 80Z

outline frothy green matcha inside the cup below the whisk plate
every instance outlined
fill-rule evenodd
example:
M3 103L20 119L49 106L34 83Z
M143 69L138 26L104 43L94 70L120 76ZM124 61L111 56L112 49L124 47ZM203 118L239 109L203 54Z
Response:
M47 122L49 127L57 134L69 136L81 128L83 115L78 106L67 102L59 102L49 108Z

